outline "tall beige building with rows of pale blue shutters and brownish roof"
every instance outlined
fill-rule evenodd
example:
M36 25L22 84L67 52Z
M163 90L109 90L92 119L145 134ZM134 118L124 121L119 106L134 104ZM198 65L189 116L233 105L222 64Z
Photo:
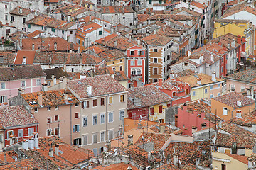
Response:
M108 140L122 133L127 89L110 75L68 81L68 89L81 101L80 145L100 154Z

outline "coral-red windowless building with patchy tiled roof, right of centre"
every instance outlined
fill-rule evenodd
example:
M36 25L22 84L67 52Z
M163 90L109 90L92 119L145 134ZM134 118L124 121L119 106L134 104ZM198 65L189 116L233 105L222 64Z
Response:
M215 118L215 115L210 113L208 104L203 101L193 101L178 108L176 126L181 128L183 135L192 136L193 132L209 127L209 124L214 125L215 121L220 120L220 118Z

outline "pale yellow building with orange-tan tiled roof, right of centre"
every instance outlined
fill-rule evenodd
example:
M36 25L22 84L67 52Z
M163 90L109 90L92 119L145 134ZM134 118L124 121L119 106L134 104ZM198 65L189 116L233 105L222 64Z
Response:
M179 80L191 86L191 101L201 98L213 98L222 94L224 79L215 78L215 81L213 81L212 78L203 73L178 77Z

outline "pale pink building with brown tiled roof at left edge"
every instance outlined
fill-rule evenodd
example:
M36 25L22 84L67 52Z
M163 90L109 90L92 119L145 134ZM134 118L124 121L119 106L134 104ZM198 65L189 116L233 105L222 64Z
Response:
M9 98L18 95L18 89L25 93L41 91L46 74L40 65L0 67L0 103L9 103Z

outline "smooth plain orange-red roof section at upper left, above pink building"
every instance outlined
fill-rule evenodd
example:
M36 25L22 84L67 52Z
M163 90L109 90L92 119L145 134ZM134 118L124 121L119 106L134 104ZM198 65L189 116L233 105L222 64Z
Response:
M33 60L35 58L36 51L32 50L18 50L14 64L22 64L23 62L23 57L26 57L26 64L33 64Z

